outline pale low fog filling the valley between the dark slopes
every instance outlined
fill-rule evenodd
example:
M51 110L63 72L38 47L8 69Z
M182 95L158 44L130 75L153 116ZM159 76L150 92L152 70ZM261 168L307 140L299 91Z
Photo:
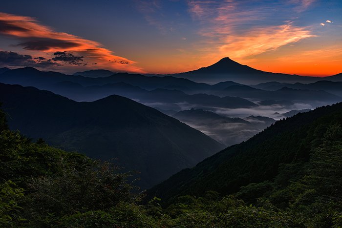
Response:
M307 112L327 103L292 103L291 105L260 105L253 108L221 108L195 104L149 103L151 107L170 115L179 121L229 146L246 141L274 124L277 120Z

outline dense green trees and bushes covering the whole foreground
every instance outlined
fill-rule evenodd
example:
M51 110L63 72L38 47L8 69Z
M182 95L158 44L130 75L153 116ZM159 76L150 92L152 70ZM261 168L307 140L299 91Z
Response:
M1 111L0 227L341 227L342 108L318 110L305 123L297 123L298 116L280 122L284 131L292 129L284 123L304 127L310 147L303 142L274 178L251 181L230 195L203 186L193 189L202 194L175 196L168 204L157 197L142 204L129 173L116 166L8 130ZM270 165L275 151L264 150Z

